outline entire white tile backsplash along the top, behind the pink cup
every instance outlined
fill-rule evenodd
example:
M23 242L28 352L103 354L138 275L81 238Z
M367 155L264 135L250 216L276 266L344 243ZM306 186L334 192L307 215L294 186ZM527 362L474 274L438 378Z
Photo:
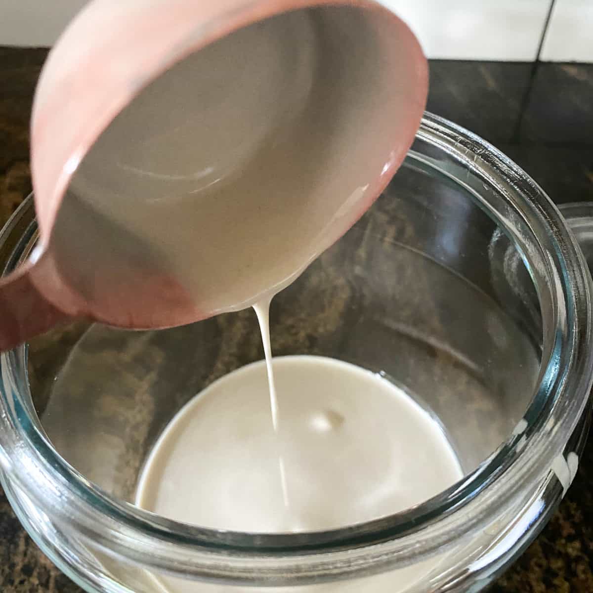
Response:
M429 58L530 61L551 0L381 1L410 24ZM52 45L85 4L0 0L0 45ZM556 0L541 58L593 62L593 0Z

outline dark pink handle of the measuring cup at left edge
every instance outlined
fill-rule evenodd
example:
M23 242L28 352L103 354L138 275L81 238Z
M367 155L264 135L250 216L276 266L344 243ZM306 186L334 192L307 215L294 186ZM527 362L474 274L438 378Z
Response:
M0 352L72 319L37 288L36 277L48 275L52 270L42 259L0 279Z

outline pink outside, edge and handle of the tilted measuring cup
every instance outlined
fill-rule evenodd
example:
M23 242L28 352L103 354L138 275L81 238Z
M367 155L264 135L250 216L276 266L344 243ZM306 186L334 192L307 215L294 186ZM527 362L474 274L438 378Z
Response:
M364 121L353 122L349 112L349 119L337 121L327 138L328 149L340 155L328 178L360 170L369 182L349 204L324 247L380 195L412 144L428 85L426 59L417 40L388 9L366 0L94 0L53 48L37 87L31 169L39 244L26 263L0 280L0 350L72 317L146 329L191 323L221 312L212 303L200 302L199 295L189 294L162 266L151 262L142 246L121 237L112 240L90 224L68 251L63 246L68 237L56 237L56 221L85 156L146 85L187 56L244 28L267 23L273 31L275 19L298 12L317 18L314 43L320 55L331 46L339 56L339 67L320 83L328 89L339 88L357 56L371 56L366 63L358 60L349 91L358 97ZM282 36L279 39L282 42ZM307 50L305 44L311 39L297 37L286 43L292 43L285 48L291 55ZM267 54L257 41L243 50L250 68L257 66L257 60L262 60L262 68L266 66ZM213 60L212 72L227 66L224 60ZM273 75L267 81L275 84ZM232 79L227 83L232 84ZM336 97L339 104L340 96ZM224 125L222 104L217 109L216 117ZM241 121L262 116L249 109L257 105L246 108ZM166 118L167 114L154 116ZM209 126L204 134L215 135L216 127ZM356 142L352 142L353 133ZM233 145L241 145L246 134L248 130L238 125ZM208 140L202 138L202 143ZM108 177L110 170L104 175Z

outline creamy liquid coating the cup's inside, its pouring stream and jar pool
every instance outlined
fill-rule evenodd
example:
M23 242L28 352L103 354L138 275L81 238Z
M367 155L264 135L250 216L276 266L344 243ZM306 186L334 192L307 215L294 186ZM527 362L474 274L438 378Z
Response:
M264 362L232 372L177 414L142 474L144 508L218 529L324 530L461 477L438 423L390 382L326 358L272 365L270 299L350 228L399 158L407 113L395 106L408 95L377 66L387 46L397 51L382 16L351 7L250 25L149 84L78 165L51 241L86 302L133 320L139 299L173 284L199 312L191 321L254 306L262 328L269 374Z

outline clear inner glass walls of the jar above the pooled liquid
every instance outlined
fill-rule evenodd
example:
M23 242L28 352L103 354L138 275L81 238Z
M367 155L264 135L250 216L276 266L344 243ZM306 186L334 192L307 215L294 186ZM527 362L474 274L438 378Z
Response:
M530 406L542 318L521 250L464 184L427 164L421 144L361 220L273 299L272 349L381 374L439 423L468 476ZM59 454L134 503L146 460L179 410L262 358L251 310L160 331L81 321L28 345L28 380ZM360 397L372 413L372 394ZM199 476L199 463L189 471ZM312 489L314 481L313 473Z

